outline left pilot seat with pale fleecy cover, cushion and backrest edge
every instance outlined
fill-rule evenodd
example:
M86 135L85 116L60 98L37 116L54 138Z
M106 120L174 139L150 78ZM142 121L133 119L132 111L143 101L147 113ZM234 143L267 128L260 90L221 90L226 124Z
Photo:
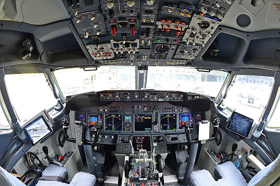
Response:
M85 172L78 172L73 177L70 185L59 182L57 177L65 178L67 170L54 164L50 164L43 172L42 177L39 178L35 186L94 186L96 177L92 174ZM26 186L18 178L11 175L0 166L0 186Z

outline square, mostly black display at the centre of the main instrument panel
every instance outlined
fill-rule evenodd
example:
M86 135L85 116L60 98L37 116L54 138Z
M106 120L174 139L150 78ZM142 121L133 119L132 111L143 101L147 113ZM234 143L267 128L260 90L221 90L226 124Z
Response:
M152 115L134 115L135 131L151 131Z

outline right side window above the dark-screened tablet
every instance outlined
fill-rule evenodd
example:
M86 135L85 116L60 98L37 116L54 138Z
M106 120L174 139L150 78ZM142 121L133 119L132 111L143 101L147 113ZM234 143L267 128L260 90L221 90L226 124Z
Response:
M258 123L267 106L273 84L273 77L237 75L223 104Z

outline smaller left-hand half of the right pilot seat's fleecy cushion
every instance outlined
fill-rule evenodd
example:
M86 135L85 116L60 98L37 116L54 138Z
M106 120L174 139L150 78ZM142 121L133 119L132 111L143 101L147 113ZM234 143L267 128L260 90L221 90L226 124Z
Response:
M216 181L208 170L199 170L191 174L191 183L194 186L217 186Z

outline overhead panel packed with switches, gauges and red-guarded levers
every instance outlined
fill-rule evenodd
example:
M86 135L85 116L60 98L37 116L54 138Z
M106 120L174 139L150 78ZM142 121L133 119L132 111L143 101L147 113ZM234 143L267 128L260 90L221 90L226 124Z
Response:
M96 65L191 66L233 0L63 0Z

